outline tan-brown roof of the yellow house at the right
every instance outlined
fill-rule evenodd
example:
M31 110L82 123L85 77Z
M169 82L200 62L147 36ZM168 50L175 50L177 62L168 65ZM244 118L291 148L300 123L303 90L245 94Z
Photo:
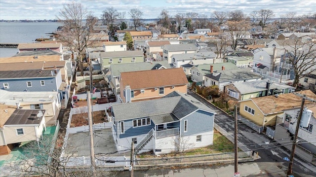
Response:
M310 90L299 91L296 93L306 95L308 98L316 100L316 95ZM278 95L277 98L274 95L257 97L252 98L252 101L260 108L260 110L264 114L281 112L284 109L300 107L302 104L302 98L293 93L281 94ZM305 105L308 104L311 104L311 102L306 100Z

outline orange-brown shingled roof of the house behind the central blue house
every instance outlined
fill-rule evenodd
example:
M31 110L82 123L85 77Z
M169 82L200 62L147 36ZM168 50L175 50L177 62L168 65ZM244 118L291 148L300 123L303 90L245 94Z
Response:
M123 85L129 85L131 89L154 88L189 83L182 68L121 72L120 79Z

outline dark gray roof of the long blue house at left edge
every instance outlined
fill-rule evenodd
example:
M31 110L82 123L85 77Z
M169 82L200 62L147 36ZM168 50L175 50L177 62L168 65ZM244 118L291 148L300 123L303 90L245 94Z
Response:
M59 72L59 70L57 70ZM58 73L57 72L57 73ZM55 77L53 70L0 71L1 79Z

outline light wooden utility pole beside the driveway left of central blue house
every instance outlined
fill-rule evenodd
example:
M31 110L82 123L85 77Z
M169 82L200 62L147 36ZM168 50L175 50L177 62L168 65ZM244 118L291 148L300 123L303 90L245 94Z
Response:
M91 171L93 176L95 175L95 158L93 147L93 124L92 124L92 111L91 111L91 98L90 92L87 90L87 106L88 106L88 119L89 119L89 133L90 133L90 158L91 158Z

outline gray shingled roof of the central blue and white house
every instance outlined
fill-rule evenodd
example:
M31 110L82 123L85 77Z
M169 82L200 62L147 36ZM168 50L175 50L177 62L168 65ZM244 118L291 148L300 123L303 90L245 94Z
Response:
M165 121L175 121L175 118L181 119L197 109L215 114L215 111L201 104L192 96L175 91L161 99L112 106L116 121L141 117L154 117L155 119L164 118ZM167 114L173 114L175 117L172 117L172 115L170 115L170 117ZM161 123L164 120L155 121Z

